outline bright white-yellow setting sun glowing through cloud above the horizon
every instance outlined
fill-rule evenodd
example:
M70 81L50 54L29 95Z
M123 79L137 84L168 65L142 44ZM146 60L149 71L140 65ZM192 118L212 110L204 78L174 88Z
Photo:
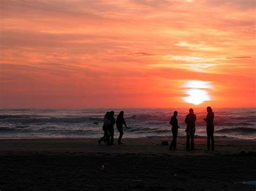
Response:
M189 95L187 97L183 97L185 102L198 105L205 101L211 101L211 96L207 91L207 89L213 89L210 82L188 81L184 87L188 88L185 90L185 93Z

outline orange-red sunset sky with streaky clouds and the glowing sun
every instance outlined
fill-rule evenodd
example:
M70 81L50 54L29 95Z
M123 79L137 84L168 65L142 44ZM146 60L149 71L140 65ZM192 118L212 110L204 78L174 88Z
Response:
M255 1L1 0L1 108L256 107Z

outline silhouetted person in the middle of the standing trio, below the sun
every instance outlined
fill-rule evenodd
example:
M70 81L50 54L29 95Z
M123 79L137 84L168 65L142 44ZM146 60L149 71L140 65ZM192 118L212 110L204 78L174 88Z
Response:
M185 123L187 124L186 133L187 133L187 141L186 141L186 148L187 150L194 149L194 132L196 132L196 125L195 122L197 121L197 116L194 115L194 110L190 108L190 113L185 118ZM190 144L191 138L191 144Z

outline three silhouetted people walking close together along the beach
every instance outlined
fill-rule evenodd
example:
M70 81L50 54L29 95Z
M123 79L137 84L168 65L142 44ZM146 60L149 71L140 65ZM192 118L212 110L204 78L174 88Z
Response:
M127 125L124 121L124 111L120 111L120 113L117 116L117 121L114 118L114 111L107 111L104 116L104 122L103 122L103 131L104 136L98 140L98 143L101 145L102 141L106 143L107 145L114 145L114 124L117 126L117 130L119 131L119 138L118 138L118 144L123 144L121 142L121 139L124 135L123 131L123 125L127 129Z

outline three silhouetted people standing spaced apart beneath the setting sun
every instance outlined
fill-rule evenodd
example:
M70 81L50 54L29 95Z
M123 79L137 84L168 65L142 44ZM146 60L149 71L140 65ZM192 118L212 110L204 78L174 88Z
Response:
M186 149L187 150L194 150L194 133L196 132L196 121L197 116L194 114L194 110L191 108L190 113L186 115L185 123L187 124L186 127L186 133L187 133L187 139L186 139ZM178 112L174 111L173 116L171 117L170 124L172 125L172 135L173 140L170 145L170 150L177 150L177 135L178 135L178 120L177 120ZM207 107L207 116L204 118L204 121L206 121L206 132L207 132L207 148L208 150L213 151L214 150L214 138L213 138L213 132L214 132L214 125L213 125L213 119L214 119L214 113L212 112L211 107Z

